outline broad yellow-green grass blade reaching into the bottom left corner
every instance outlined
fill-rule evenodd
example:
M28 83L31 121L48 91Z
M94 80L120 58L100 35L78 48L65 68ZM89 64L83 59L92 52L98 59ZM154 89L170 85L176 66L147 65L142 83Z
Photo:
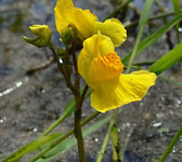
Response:
M18 159L21 159L23 156L25 156L29 152L32 152L35 150L38 150L43 145L52 141L53 139L60 137L61 135L62 135L61 133L56 133L56 134L52 134L52 135L49 135L49 136L43 136L43 137L40 137L36 140L32 140L31 143L25 145L24 147L22 147L21 149L18 149L14 153L12 153L6 159L2 160L2 162L15 162Z

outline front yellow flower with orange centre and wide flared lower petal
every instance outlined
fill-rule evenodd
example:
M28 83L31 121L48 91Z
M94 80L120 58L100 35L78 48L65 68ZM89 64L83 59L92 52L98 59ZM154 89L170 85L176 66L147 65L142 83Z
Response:
M99 33L83 42L78 56L78 71L92 89L91 106L98 111L105 112L141 100L155 84L155 73L139 70L122 75L122 69L108 37Z

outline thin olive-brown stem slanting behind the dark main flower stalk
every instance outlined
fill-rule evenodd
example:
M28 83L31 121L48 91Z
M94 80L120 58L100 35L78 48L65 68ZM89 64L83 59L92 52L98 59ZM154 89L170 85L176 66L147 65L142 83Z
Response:
M87 123L89 123L91 120L93 120L94 118L96 118L99 114L100 114L100 112L96 111L96 112L92 113L91 116L89 116L88 118L86 118L83 121L81 121L81 123L80 123L81 126L84 126ZM52 148L54 148L55 146L57 146L64 139L68 138L73 133L74 133L74 129L72 129L70 131L68 131L65 135L61 136L60 138L55 139L47 149L44 149L43 151L41 151L34 159L31 159L29 162L35 162L36 160L38 160L40 158L43 158L44 153L47 153Z

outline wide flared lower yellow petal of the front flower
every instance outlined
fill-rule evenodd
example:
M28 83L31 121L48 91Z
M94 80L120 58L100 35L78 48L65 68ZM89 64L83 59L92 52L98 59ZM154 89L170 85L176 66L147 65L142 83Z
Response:
M131 102L141 100L155 84L156 75L140 70L117 79L98 82L91 94L91 106L106 112Z

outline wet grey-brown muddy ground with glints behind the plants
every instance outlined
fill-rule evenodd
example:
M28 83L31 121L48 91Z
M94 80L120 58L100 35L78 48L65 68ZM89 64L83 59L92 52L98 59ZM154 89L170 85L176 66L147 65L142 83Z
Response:
M28 69L44 65L51 57L48 49L37 49L22 40L22 36L30 36L29 25L48 24L53 30L54 44L60 43L56 41L58 35L54 26L55 2L0 1L0 160L38 137L62 114L64 106L72 97L55 65L34 76L25 75ZM169 5L167 0L162 2L166 6ZM134 3L141 9L140 0L135 0ZM100 19L117 5L113 0L79 0L76 4L90 9ZM128 14L132 15L130 11ZM118 49L120 55L125 55L133 46L132 36L134 35L128 37L127 42ZM145 52L147 57L143 55L138 60L155 60L167 51L168 45L164 36ZM182 81L178 73L173 75L170 70L167 75ZM92 111L94 110L89 108L87 100L83 117ZM125 106L117 120L121 147L130 130L133 130L125 153L125 162L151 162L153 158L158 159L181 124L182 90L158 79L147 96L141 103ZM67 119L56 131L66 132L72 126L72 120ZM105 131L106 126L84 139L88 162L95 161ZM168 162L182 161L181 144L182 139L178 141ZM77 148L74 147L56 162L76 162L77 154ZM112 161L110 157L109 144L103 161Z

